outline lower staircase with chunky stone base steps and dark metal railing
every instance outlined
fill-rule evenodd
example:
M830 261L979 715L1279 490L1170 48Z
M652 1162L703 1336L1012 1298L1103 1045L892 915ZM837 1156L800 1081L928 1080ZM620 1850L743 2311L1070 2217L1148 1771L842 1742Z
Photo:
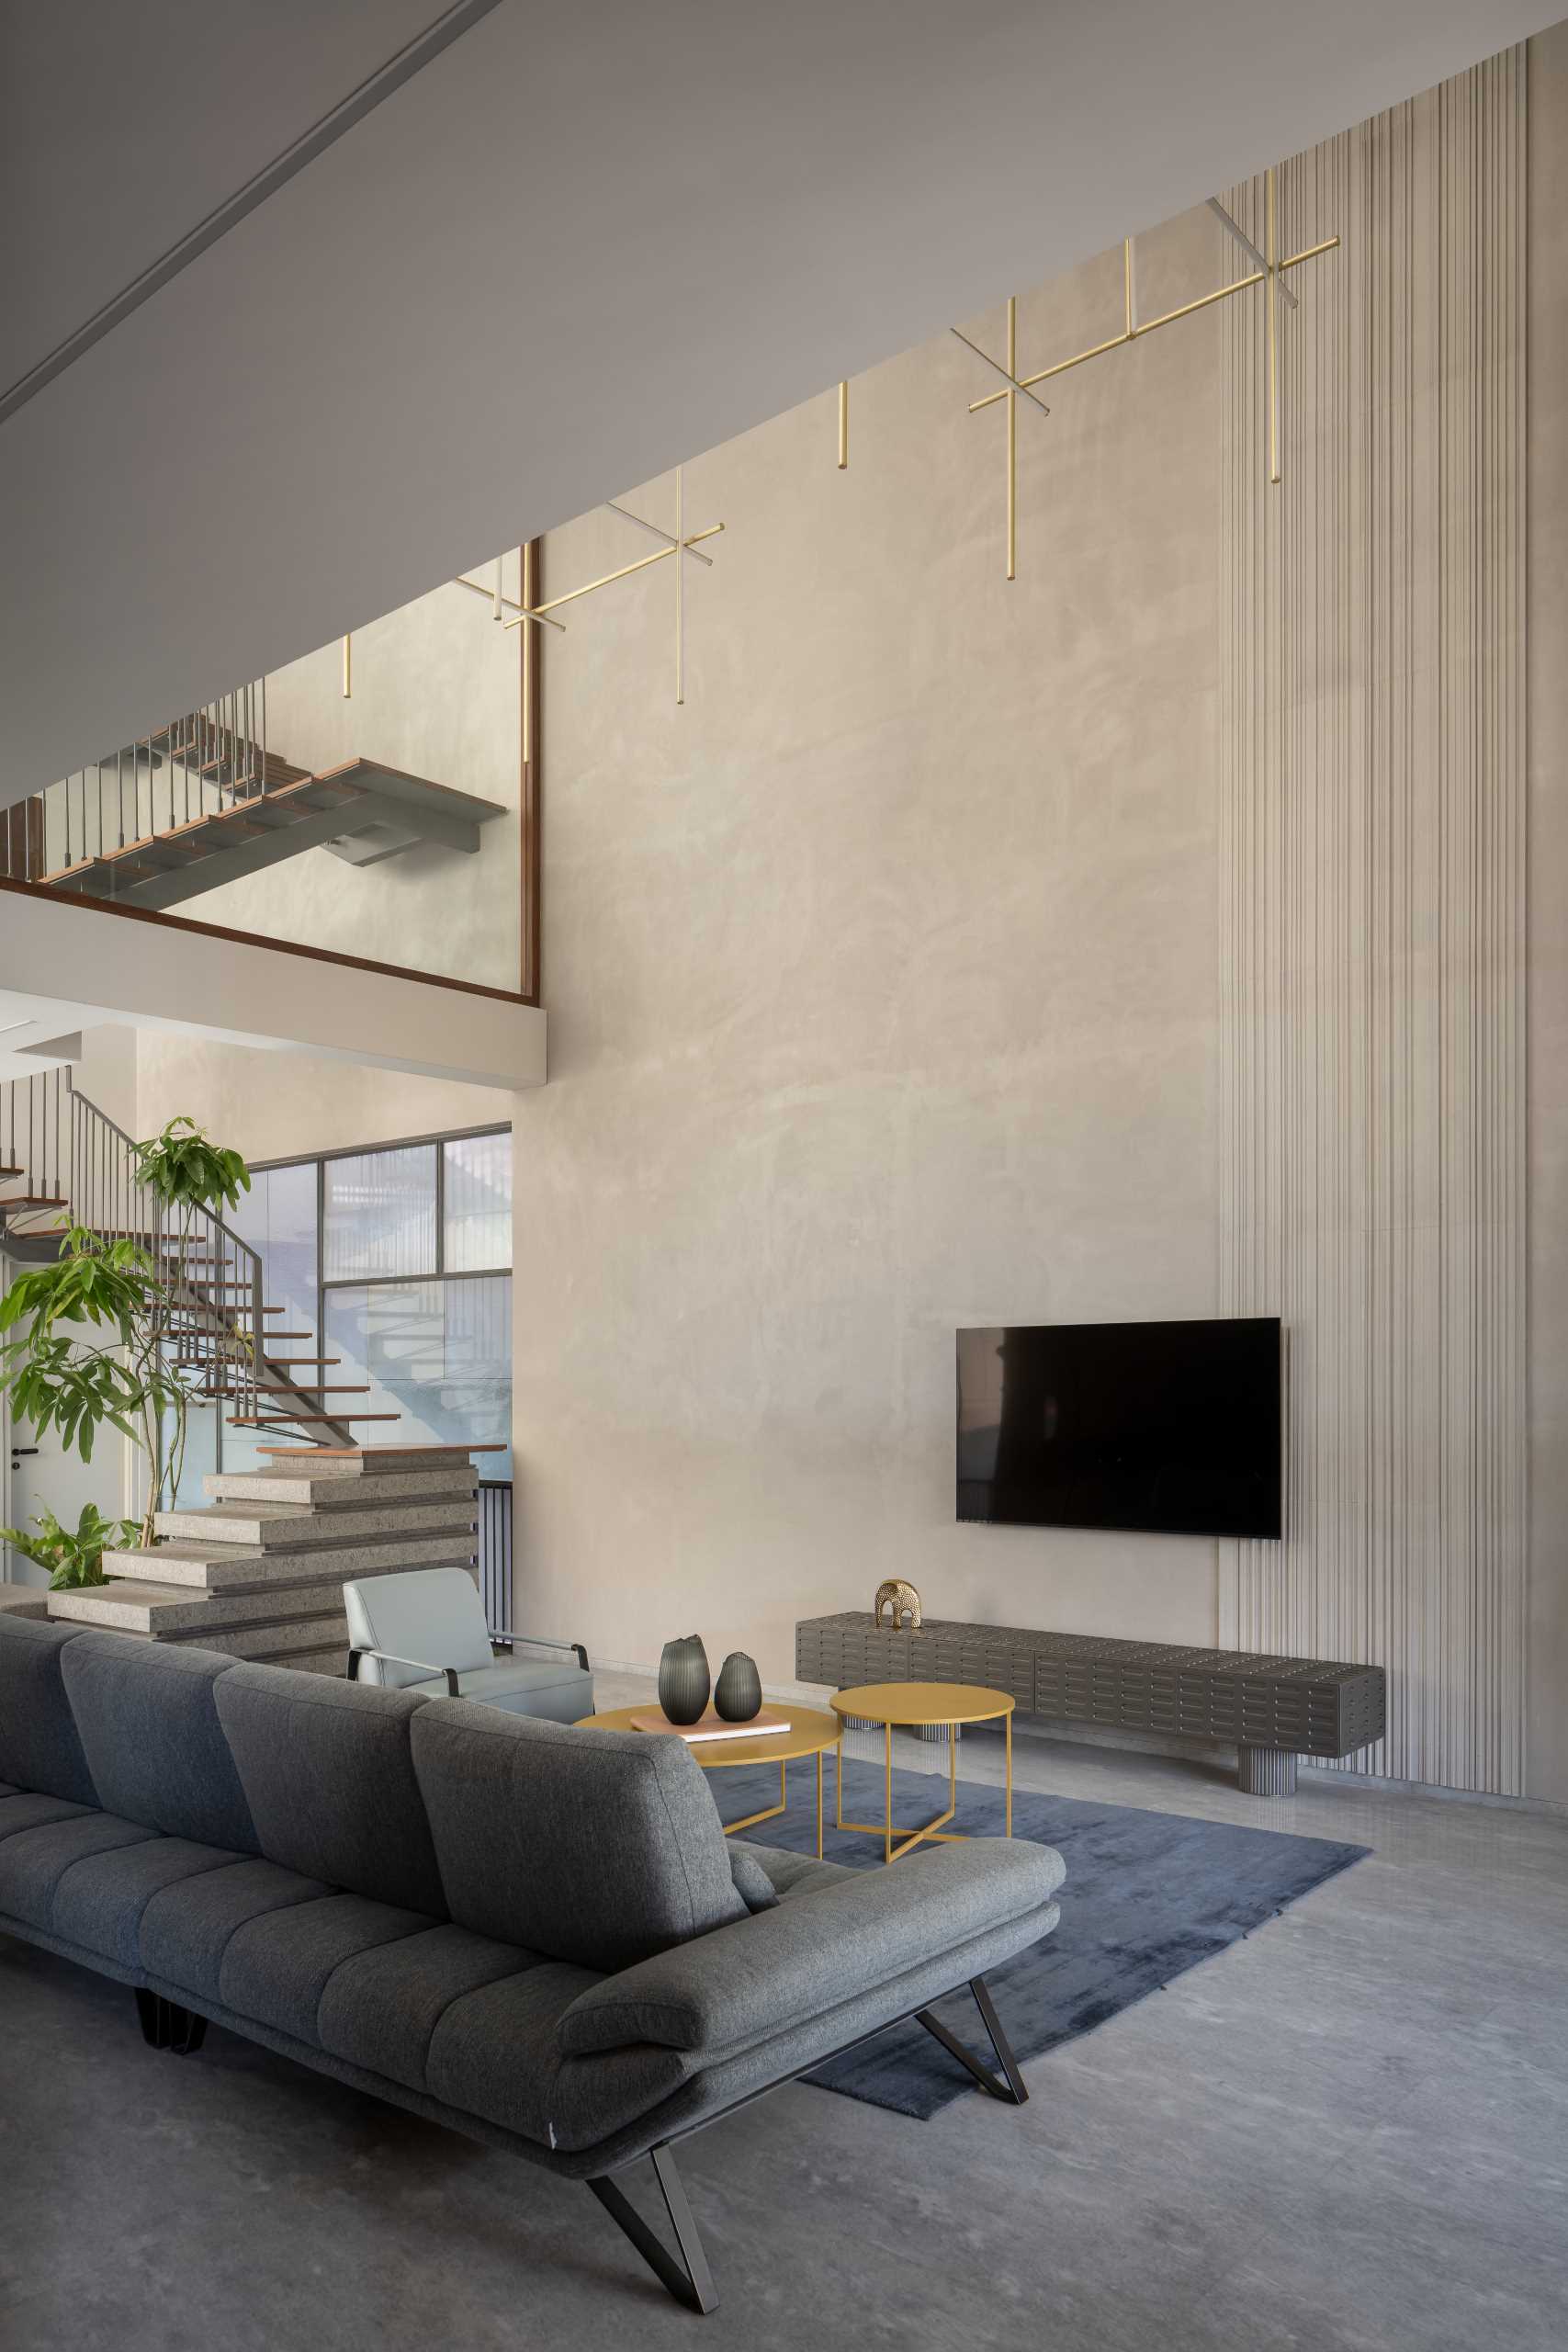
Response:
M477 1564L470 1449L360 1444L355 1425L400 1416L329 1402L364 1388L294 1352L310 1331L268 1322L284 1310L263 1298L256 1251L207 1211L167 1211L136 1183L132 1138L68 1070L40 1070L0 1089L0 1251L47 1263L73 1223L136 1240L165 1272L160 1345L193 1395L233 1404L235 1430L294 1444L261 1444L261 1470L205 1477L205 1508L158 1512L158 1543L106 1552L108 1585L49 1592L52 1618L341 1675L343 1578Z

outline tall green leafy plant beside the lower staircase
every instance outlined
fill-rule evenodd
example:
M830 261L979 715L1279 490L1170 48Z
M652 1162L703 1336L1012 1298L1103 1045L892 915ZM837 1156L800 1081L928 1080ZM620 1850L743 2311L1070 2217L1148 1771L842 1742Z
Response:
M155 1515L179 1494L190 1385L226 1355L249 1355L247 1338L226 1329L209 1336L200 1364L165 1355L169 1331L188 1312L181 1287L190 1279L193 1221L200 1209L233 1209L249 1190L249 1171L237 1152L212 1143L186 1117L134 1143L132 1155L136 1183L169 1214L167 1242L155 1258L139 1237L68 1225L54 1263L26 1268L0 1298L0 1392L12 1414L38 1432L59 1430L85 1463L106 1425L141 1446L148 1458L141 1543L150 1545ZM7 1338L12 1331L16 1336ZM96 1519L96 1505L89 1508ZM101 1524L113 1531L122 1522ZM33 1541L49 1541L5 1534L28 1557L38 1557L28 1550ZM92 1555L92 1571L80 1569L71 1581L99 1583L101 1552L103 1543Z

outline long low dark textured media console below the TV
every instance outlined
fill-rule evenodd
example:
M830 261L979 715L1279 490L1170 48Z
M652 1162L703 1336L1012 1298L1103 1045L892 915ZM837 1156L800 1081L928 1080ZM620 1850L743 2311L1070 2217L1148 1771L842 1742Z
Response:
M1011 1691L1025 1715L1234 1743L1237 1780L1255 1797L1291 1795L1298 1755L1371 1748L1382 1738L1387 1698L1380 1665L952 1618L893 1630L865 1609L802 1618L795 1677L835 1691L856 1682L983 1682Z

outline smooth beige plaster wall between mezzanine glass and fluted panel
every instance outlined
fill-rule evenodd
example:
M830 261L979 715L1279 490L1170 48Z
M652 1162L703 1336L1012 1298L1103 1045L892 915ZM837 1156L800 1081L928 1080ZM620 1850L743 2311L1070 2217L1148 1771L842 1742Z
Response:
M1152 313L1220 233L1140 261ZM1020 365L1119 310L1119 256L1025 296ZM952 1517L954 1324L1215 1305L1213 315L1020 412L1013 583L992 381L945 336L856 383L846 473L832 397L686 468L726 529L684 708L668 564L545 647L520 1606L609 1658L701 1628L788 1679L795 1618L889 1573L1215 1632L1206 1541ZM550 593L630 539L552 534Z

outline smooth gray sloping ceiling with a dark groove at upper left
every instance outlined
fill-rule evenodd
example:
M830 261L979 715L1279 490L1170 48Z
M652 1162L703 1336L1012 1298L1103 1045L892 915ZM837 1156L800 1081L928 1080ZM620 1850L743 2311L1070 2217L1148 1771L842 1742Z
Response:
M5 381L440 14L7 0ZM0 802L1552 16L501 0L0 426Z

